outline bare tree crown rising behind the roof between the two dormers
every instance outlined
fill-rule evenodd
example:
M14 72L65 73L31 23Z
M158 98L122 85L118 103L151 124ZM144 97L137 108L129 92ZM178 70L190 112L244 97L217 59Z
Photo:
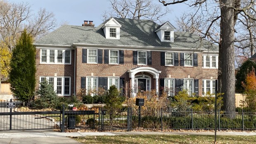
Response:
M109 17L122 17L130 19L150 19L162 23L161 18L168 14L169 9L152 0L109 0L112 9L105 11L103 21Z

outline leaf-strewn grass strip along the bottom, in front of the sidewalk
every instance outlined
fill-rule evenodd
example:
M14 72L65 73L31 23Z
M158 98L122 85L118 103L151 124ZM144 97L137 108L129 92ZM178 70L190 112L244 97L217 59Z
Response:
M214 144L214 135L118 135L73 139L82 144ZM256 144L256 136L217 136L217 144Z

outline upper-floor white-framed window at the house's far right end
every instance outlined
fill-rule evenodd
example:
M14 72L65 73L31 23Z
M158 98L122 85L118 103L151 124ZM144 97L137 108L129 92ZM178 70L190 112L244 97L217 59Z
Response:
M218 68L218 56L203 55L203 68Z

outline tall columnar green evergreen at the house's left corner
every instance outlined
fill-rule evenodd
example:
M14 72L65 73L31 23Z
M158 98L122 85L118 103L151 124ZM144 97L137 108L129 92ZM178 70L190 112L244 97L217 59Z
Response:
M33 97L36 85L36 48L32 41L31 35L25 30L12 50L10 62L11 91L14 97L23 102Z

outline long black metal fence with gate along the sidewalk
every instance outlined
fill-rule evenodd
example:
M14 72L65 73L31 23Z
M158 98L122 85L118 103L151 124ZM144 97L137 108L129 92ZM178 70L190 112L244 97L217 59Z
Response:
M0 130L72 129L86 130L134 130L140 125L147 130L214 130L214 112L169 110L144 110L124 108L122 110L95 108L28 109L19 106L7 108L8 101L0 102ZM140 113L140 115L139 115ZM140 118L139 118L140 117ZM256 130L256 113L217 112L217 130Z

